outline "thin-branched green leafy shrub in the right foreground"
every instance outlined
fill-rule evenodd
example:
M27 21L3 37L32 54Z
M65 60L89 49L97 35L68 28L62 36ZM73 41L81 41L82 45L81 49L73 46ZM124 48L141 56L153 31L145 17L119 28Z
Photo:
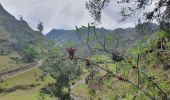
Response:
M139 21L139 23L140 23L140 21ZM90 33L89 32L90 27L91 27L90 25L88 25L88 27L85 27L85 28L89 29L88 34ZM90 35L94 34L94 38L92 40L93 41L96 40L97 41L96 45L99 44L100 46L95 46L94 44L91 44L90 39L89 39L90 36L87 36L87 40L85 41L85 43L87 43L86 45L88 45L89 50L95 50L96 52L98 52L98 53L96 53L97 55L99 54L99 52L102 52L102 53L105 52L104 54L108 55L110 57L112 55L112 60L116 66L116 69L114 71L112 69L110 69L108 64L112 63L112 62L106 62L104 60L101 62L106 63L106 65L102 66L101 62L92 61L91 59L88 59L88 58L75 57L74 59L76 59L77 61L78 60L86 61L86 62L88 61L88 63L90 63L90 66L93 66L93 68L98 67L98 68L100 68L100 70L105 71L107 74L106 75L104 74L101 77L101 80L107 80L107 78L111 77L111 79L116 78L117 81L119 80L119 81L122 81L123 83L131 84L134 87L134 91L131 92L132 94L130 92L128 94L133 95L135 93L135 95L132 96L131 99L137 98L136 100L138 100L138 98L140 98L140 96L142 95L144 98L150 98L151 100L156 100L157 97L160 99L163 99L163 100L168 100L168 93L165 91L165 88L161 87L160 83L155 82L154 75L150 76L149 71L143 70L143 68L142 68L143 65L141 65L141 61L145 61L146 58L148 57L148 56L146 56L148 54L146 54L144 51L144 48L147 47L147 45L146 45L147 39L144 39L144 40L142 39L141 41L139 41L137 43L136 47L134 48L134 50L132 50L132 52L131 52L131 49L129 49L128 50L129 53L127 52L128 56L126 56L126 54L120 55L120 53L121 53L120 50L116 50L117 46L115 46L115 49L111 49L112 46L107 47L107 43L109 43L109 42L107 42L108 39L106 39L105 37L100 38L98 36L98 34L100 34L100 33L96 33L96 31L95 31L95 25L93 27L94 27L94 31L93 31L94 33L90 33ZM82 28L77 28L77 32L81 32L80 30L82 30ZM103 41L102 41L102 39L103 39ZM80 40L82 40L81 37L80 37ZM117 37L117 43L118 43L118 37ZM116 43L116 45L117 45L117 43ZM120 58L120 60L117 58ZM132 79L128 78L129 75L131 75L131 71L135 71L135 73L136 73L133 75L134 76L133 80L135 80L135 81L132 81ZM93 75L93 79L98 79L97 74ZM91 80L87 78L87 80L86 80L87 84L89 84L90 81ZM92 80L92 82L93 82L93 80ZM154 89L149 88L149 87L147 87L147 89L143 89L142 87L144 85L152 86ZM165 85L167 85L167 84L165 84Z

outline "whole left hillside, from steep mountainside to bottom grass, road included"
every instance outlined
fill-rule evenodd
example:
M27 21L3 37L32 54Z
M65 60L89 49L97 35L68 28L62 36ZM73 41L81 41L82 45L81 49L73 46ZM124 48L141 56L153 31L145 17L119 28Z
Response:
M0 100L41 98L40 89L54 82L49 74L42 77L44 73L38 68L43 67L42 51L48 46L42 33L31 29L23 19L17 20L0 4ZM35 50L35 60L25 61L25 53Z

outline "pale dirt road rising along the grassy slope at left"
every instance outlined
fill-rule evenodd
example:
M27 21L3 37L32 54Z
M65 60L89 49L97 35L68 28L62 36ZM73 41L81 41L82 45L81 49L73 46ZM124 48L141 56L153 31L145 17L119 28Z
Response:
M0 79L7 80L7 79L15 77L17 75L26 73L28 71L31 71L31 70L37 68L37 67L40 67L43 64L43 62L44 62L44 60L41 59L41 60L38 61L37 64L31 64L31 65L26 66L26 67L18 68L18 69L15 69L13 71L3 73L3 74L0 75Z

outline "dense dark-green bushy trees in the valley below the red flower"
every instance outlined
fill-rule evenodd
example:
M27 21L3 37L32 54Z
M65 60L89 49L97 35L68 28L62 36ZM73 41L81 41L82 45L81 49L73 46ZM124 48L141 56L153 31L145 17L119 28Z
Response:
M64 49L64 51L63 51ZM48 85L42 91L64 100L70 99L70 85L72 79L81 74L80 66L74 60L61 60L60 57L66 55L65 48L54 46L48 54L46 66L48 72L56 80L54 84Z

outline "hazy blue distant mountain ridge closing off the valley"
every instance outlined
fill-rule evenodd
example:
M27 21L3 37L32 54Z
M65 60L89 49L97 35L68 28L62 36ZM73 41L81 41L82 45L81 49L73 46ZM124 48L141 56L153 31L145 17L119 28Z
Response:
M142 29L142 30L141 30ZM97 33L102 34L119 34L120 44L124 44L126 41L134 42L137 37L143 37L144 35L151 35L152 33L159 30L159 26L154 23L143 23L137 25L134 28L117 28L114 30L109 30L105 28L96 28ZM82 34L87 35L87 30L83 30ZM75 30L64 30L64 29L52 29L46 34L46 37L57 43L65 43L68 41L80 42Z

